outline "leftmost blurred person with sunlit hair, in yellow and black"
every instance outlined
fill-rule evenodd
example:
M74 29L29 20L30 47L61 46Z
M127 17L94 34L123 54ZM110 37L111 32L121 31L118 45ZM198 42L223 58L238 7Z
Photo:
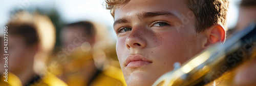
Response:
M51 74L45 64L55 42L51 20L25 11L17 12L15 17L7 24L9 81L1 81L0 85L67 85Z

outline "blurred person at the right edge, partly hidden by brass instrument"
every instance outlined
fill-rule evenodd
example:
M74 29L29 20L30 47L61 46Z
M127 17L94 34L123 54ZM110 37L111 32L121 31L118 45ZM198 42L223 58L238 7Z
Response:
M240 4L239 18L236 28L233 29L233 34L236 34L246 29L250 24L256 23L256 1L255 0L242 0ZM255 33L256 34L256 33ZM251 39L250 39L251 40ZM256 46L254 42L253 46ZM256 49L252 49L252 51ZM256 52L250 60L240 66L234 76L234 83L237 85L256 85Z

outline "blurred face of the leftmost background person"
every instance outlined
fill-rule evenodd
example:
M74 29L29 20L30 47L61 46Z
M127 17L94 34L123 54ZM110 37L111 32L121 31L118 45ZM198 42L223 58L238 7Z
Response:
M34 45L26 45L21 36L9 35L8 39L8 71L17 73L26 70L26 67L33 63L37 48Z

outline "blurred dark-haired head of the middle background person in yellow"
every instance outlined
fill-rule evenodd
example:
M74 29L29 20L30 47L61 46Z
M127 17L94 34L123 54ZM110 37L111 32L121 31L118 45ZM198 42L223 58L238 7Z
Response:
M70 44L81 46L83 42L88 42L93 46L95 43L95 29L90 22L77 22L63 28L60 37L62 46L65 48L68 48Z

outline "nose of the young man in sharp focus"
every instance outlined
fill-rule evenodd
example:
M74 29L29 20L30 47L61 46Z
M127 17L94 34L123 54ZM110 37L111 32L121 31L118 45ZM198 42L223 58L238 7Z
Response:
M125 45L127 49L131 48L145 48L146 47L146 39L145 39L145 31L143 28L133 28L129 36L126 37Z

